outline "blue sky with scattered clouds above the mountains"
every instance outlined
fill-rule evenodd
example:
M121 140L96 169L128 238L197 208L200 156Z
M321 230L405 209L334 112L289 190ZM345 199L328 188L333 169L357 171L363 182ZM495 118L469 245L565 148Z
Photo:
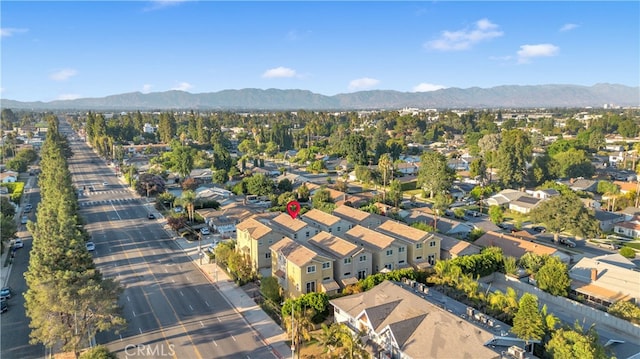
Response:
M640 85L640 2L2 1L2 98Z

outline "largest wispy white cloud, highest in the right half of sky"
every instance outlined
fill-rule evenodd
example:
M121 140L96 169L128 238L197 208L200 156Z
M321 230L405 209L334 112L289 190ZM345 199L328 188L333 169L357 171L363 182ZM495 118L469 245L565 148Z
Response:
M502 36L499 26L488 19L476 21L473 28L457 31L443 31L438 39L427 42L424 46L440 51L467 50L473 45Z

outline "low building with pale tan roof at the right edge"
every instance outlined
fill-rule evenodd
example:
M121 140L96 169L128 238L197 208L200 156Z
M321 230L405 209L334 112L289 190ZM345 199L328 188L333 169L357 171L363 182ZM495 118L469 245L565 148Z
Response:
M571 291L591 304L608 307L626 300L640 304L640 272L620 254L582 257L569 270Z

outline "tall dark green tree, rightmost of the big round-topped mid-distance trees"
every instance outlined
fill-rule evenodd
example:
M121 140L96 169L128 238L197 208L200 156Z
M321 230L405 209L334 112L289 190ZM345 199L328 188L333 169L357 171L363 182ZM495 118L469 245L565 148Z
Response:
M518 188L527 179L527 162L531 160L533 146L526 132L516 129L502 132L497 161L500 181L510 188Z

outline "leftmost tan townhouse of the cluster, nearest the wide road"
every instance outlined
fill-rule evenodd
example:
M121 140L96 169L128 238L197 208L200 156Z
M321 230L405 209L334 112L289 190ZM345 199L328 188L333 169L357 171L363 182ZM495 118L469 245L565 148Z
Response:
M251 268L257 273L270 275L271 251L269 247L285 237L273 230L268 220L256 215L236 225L236 250L248 256Z

